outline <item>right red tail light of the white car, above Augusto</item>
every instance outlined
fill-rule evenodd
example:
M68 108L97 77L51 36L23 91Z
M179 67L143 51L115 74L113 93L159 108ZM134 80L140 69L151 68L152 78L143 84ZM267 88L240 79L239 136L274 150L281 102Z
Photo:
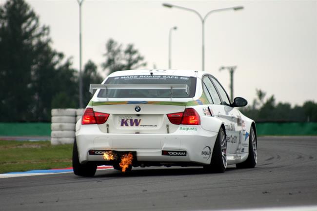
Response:
M184 112L168 114L167 117L172 124L176 125L200 125L200 117L193 108L185 109Z

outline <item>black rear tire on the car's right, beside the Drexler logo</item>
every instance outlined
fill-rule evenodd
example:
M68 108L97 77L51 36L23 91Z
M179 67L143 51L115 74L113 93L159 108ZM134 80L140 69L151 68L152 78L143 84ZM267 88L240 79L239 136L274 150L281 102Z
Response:
M211 173L224 173L227 168L227 139L222 127L215 142L211 162L203 168Z

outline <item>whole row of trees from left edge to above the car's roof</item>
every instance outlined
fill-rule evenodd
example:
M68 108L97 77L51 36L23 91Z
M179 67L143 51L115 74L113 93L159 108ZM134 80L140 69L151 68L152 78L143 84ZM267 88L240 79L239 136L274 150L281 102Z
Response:
M0 5L0 122L50 121L52 108L79 107L79 74L72 58L52 48L49 27L24 0ZM114 39L105 45L103 71L146 65L133 44L125 48ZM90 83L102 77L92 61L82 72L83 101L91 98Z

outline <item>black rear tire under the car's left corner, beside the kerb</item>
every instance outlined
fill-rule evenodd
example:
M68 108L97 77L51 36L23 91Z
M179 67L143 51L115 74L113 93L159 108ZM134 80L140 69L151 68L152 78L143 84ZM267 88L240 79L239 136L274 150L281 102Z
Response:
M76 175L86 176L86 177L94 176L97 170L96 164L92 164L89 162L86 164L79 163L76 140L74 142L74 147L73 147L73 170Z

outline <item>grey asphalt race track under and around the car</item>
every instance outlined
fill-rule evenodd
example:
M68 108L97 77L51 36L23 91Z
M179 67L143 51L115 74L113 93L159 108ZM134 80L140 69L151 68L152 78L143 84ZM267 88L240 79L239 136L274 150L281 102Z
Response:
M219 210L317 205L317 136L260 137L255 169L134 168L0 179L0 211ZM286 209L287 210L287 209Z

